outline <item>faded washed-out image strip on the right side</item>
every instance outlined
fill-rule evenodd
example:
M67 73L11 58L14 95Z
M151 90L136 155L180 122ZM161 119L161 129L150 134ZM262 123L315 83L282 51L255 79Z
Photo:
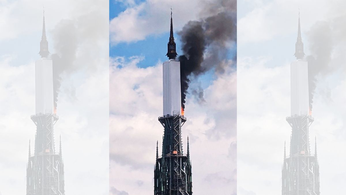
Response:
M238 194L345 190L344 1L238 3Z

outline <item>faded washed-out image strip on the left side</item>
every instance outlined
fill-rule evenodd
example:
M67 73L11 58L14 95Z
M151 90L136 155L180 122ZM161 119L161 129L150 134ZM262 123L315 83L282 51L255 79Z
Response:
M109 2L0 10L0 194L109 194Z

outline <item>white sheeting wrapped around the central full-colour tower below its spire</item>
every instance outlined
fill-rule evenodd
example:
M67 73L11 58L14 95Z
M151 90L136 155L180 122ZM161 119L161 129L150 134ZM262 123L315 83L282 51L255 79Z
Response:
M180 61L163 63L163 115L181 114Z

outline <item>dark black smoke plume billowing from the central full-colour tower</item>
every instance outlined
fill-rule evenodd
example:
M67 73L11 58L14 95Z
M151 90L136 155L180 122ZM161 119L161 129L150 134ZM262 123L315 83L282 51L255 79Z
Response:
M236 42L236 12L235 3L217 1L211 10L221 10L200 21L190 21L178 32L181 38L182 51L179 56L181 63L181 101L185 108L185 98L191 80L214 69L216 73L225 71L227 53L232 41ZM232 1L233 2L233 1ZM226 6L230 6L227 9ZM208 10L207 10L208 12ZM215 13L215 12L214 12ZM210 13L207 13L210 15ZM194 92L193 92L194 93ZM194 93L200 100L204 100L203 91Z

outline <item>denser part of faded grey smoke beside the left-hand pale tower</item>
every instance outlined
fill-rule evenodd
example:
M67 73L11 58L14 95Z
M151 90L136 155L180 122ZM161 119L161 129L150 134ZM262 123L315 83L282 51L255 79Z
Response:
M53 90L54 107L57 108L58 94L61 86L61 75L70 73L76 67L76 51L78 46L78 36L76 25L73 20L62 20L53 30L53 40L55 52L52 54L53 60Z

